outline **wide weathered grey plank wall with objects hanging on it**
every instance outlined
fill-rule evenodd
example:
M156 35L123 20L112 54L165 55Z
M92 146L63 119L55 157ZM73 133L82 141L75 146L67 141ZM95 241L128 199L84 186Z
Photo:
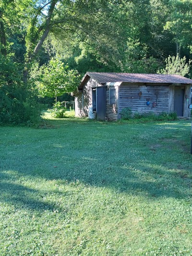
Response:
M142 95L139 96L139 93ZM123 108L130 108L132 113L150 113L160 114L168 112L168 85L120 85L119 92L119 113ZM146 102L150 101L147 106Z

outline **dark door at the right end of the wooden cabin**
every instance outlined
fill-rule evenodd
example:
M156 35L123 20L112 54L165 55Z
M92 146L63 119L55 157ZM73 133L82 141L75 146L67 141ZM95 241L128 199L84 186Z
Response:
M184 88L175 86L174 111L178 116L183 116Z

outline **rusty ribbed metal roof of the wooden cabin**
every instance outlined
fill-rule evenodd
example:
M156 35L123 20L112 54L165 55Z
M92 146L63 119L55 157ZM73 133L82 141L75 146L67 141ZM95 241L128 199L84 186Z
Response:
M99 84L108 82L125 83L159 83L159 84L191 84L192 80L175 74L139 74L139 73L104 73L87 72L79 87L82 87L89 77L96 80Z

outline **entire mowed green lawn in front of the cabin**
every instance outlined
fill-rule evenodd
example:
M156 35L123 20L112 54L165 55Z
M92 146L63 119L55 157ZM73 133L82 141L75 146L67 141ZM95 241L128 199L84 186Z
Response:
M50 122L0 127L1 256L192 255L190 121Z

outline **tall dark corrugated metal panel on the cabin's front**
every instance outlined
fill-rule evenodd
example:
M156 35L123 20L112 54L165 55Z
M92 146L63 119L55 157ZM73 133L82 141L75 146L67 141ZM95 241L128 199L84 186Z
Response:
M106 118L106 86L96 88L96 116L97 120Z

